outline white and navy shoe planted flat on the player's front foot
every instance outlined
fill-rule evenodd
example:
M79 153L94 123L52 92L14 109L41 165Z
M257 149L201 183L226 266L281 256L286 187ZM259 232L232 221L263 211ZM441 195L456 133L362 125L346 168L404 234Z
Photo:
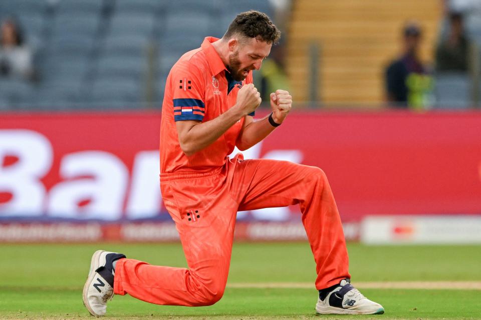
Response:
M316 312L321 314L382 314L381 304L373 302L353 287L350 279L341 281L324 300L318 299Z

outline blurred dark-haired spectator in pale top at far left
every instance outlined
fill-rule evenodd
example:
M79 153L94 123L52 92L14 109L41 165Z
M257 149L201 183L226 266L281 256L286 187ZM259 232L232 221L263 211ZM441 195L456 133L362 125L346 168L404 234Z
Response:
M0 76L32 80L32 51L24 42L20 25L6 19L0 26Z

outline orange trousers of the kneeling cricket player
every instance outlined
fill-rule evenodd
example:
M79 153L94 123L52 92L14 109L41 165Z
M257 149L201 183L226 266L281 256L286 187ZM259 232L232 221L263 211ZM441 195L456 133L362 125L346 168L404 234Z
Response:
M320 168L238 154L212 171L161 174L160 181L189 268L120 259L114 293L164 305L213 304L227 282L237 211L296 203L316 262L317 289L350 277L339 212Z

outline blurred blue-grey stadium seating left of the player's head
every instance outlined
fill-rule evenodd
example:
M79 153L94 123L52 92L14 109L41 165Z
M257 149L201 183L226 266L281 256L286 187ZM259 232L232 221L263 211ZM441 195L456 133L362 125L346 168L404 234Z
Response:
M0 79L0 109L141 107L152 96L160 107L172 64L251 8L272 16L268 0L2 0L0 20L18 17L40 79Z

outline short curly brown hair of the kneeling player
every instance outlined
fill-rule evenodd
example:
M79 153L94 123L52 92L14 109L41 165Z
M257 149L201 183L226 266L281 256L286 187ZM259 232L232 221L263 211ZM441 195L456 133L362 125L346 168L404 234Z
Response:
M256 10L237 14L222 38L230 39L234 34L257 38L269 44L276 44L281 38L281 31L269 16Z

